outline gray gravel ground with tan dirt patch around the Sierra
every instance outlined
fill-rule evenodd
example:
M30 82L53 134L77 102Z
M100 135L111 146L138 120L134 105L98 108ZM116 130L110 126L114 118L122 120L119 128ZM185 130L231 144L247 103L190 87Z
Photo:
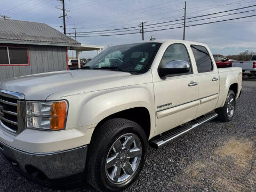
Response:
M162 147L149 148L126 191L256 191L256 78L245 78L233 121L212 121ZM0 191L54 191L28 181L0 157ZM75 191L95 191L89 185Z

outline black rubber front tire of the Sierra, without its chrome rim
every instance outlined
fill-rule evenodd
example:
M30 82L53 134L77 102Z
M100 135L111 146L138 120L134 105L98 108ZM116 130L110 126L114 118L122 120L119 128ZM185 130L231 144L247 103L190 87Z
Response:
M115 184L107 177L105 164L109 150L114 142L124 134L134 134L141 142L141 158L131 178L123 183ZM147 136L140 125L122 118L114 118L101 124L93 133L87 154L87 182L100 191L119 191L129 187L143 168L148 147ZM121 161L121 160L120 160Z

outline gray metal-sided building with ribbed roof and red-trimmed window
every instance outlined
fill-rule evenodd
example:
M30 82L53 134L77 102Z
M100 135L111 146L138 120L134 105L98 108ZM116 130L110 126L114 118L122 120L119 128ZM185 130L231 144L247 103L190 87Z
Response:
M67 70L67 50L80 45L45 23L0 19L0 81Z

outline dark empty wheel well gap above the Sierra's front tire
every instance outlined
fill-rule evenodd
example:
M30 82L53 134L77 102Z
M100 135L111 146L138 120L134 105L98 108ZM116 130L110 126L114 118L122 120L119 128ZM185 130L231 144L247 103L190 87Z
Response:
M97 127L99 127L102 123L106 122L109 119L113 118L124 118L128 119L130 121L133 121L135 123L138 123L142 129L145 131L147 138L149 138L150 135L150 115L149 111L145 107L135 107L131 109L126 109L123 111L119 111L115 114L109 115L108 117L102 119L98 125L95 127L95 130ZM94 130L94 131L95 131Z

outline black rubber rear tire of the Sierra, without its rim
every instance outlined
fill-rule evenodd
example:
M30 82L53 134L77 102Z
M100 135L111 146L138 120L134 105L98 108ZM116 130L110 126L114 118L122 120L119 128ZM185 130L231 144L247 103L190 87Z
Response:
M228 102L229 102L230 97L234 98L234 111L233 111L233 115L231 115L231 116L228 115ZM231 119L234 116L235 108L236 108L236 95L235 95L234 91L229 90L227 98L226 98L225 105L223 107L218 108L218 109L215 110L216 113L218 114L218 119L222 122L231 121Z

